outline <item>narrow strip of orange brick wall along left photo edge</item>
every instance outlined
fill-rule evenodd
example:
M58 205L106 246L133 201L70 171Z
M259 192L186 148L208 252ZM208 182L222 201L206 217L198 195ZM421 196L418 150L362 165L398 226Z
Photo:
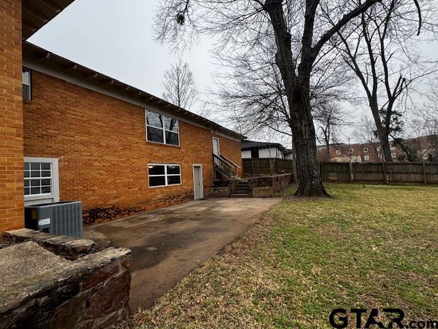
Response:
M22 228L21 0L0 1L0 232Z

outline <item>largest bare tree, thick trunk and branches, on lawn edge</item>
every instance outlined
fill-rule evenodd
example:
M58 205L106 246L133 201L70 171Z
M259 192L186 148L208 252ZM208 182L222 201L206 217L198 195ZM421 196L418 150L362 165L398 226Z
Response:
M231 51L250 60L263 51L261 45L274 42L287 124L296 145L295 195L328 197L318 168L310 103L313 67L327 56L326 44L340 29L380 1L162 0L155 27L157 38L172 45L199 33L214 34L220 38L217 52Z

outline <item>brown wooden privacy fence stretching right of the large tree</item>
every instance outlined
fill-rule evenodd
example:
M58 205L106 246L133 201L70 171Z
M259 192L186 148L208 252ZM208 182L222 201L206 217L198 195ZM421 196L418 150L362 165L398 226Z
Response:
M322 162L320 171L333 182L438 184L438 162Z

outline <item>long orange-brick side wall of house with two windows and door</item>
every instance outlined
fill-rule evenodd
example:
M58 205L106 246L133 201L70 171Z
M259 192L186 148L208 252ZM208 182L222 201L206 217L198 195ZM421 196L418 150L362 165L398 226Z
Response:
M193 199L192 164L213 184L211 132L180 121L181 147L147 143L144 108L33 72L25 156L60 158L60 199L83 202L90 222ZM240 143L219 136L242 167ZM147 164L181 164L181 186L149 188Z

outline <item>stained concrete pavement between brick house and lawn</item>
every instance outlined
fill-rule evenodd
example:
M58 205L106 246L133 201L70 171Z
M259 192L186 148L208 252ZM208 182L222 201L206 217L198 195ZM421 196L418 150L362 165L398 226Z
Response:
M86 228L85 237L132 250L131 310L155 298L220 251L278 198L205 199Z

